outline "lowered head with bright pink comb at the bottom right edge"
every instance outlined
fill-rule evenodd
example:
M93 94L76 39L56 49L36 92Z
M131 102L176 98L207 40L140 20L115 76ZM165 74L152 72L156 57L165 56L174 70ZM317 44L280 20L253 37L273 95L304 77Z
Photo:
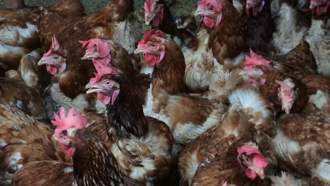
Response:
M262 153L255 144L247 144L243 147L238 147L238 162L240 166L245 169L245 175L248 178L254 180L259 178L264 179L264 168L267 167L268 161L264 158Z

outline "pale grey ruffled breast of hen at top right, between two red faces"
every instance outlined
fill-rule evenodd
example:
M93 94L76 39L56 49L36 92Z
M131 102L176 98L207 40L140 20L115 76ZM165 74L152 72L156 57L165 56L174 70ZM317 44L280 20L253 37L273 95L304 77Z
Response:
M310 18L300 11L300 1L281 1L279 13L276 18L276 32L273 35L272 44L276 54L287 54L304 39L310 27Z

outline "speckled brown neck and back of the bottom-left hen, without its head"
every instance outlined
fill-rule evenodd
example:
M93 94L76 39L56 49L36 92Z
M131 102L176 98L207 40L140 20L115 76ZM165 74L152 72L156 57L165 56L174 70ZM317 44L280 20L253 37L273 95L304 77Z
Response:
M97 135L82 130L74 137L73 166L59 161L27 163L14 175L12 185L138 185L123 178L114 155Z

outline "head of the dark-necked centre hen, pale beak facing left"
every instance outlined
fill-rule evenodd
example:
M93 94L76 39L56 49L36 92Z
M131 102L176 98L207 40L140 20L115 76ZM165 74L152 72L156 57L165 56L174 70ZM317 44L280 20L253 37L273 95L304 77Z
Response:
M99 63L98 61L93 61L93 63L97 73L95 73L95 77L90 79L90 82L86 85L86 93L97 92L97 99L102 104L114 104L114 101L118 97L120 86L116 81L111 80L111 73L116 73L117 70L105 63Z

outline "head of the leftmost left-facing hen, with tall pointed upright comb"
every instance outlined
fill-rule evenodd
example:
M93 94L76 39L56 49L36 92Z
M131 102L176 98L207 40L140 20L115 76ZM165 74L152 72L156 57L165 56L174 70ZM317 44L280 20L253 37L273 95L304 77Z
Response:
M42 56L38 62L38 66L46 65L47 72L51 75L56 73L63 73L66 70L66 58L56 54L56 51L59 50L60 45L57 41L55 35L51 37L51 48L47 53Z

